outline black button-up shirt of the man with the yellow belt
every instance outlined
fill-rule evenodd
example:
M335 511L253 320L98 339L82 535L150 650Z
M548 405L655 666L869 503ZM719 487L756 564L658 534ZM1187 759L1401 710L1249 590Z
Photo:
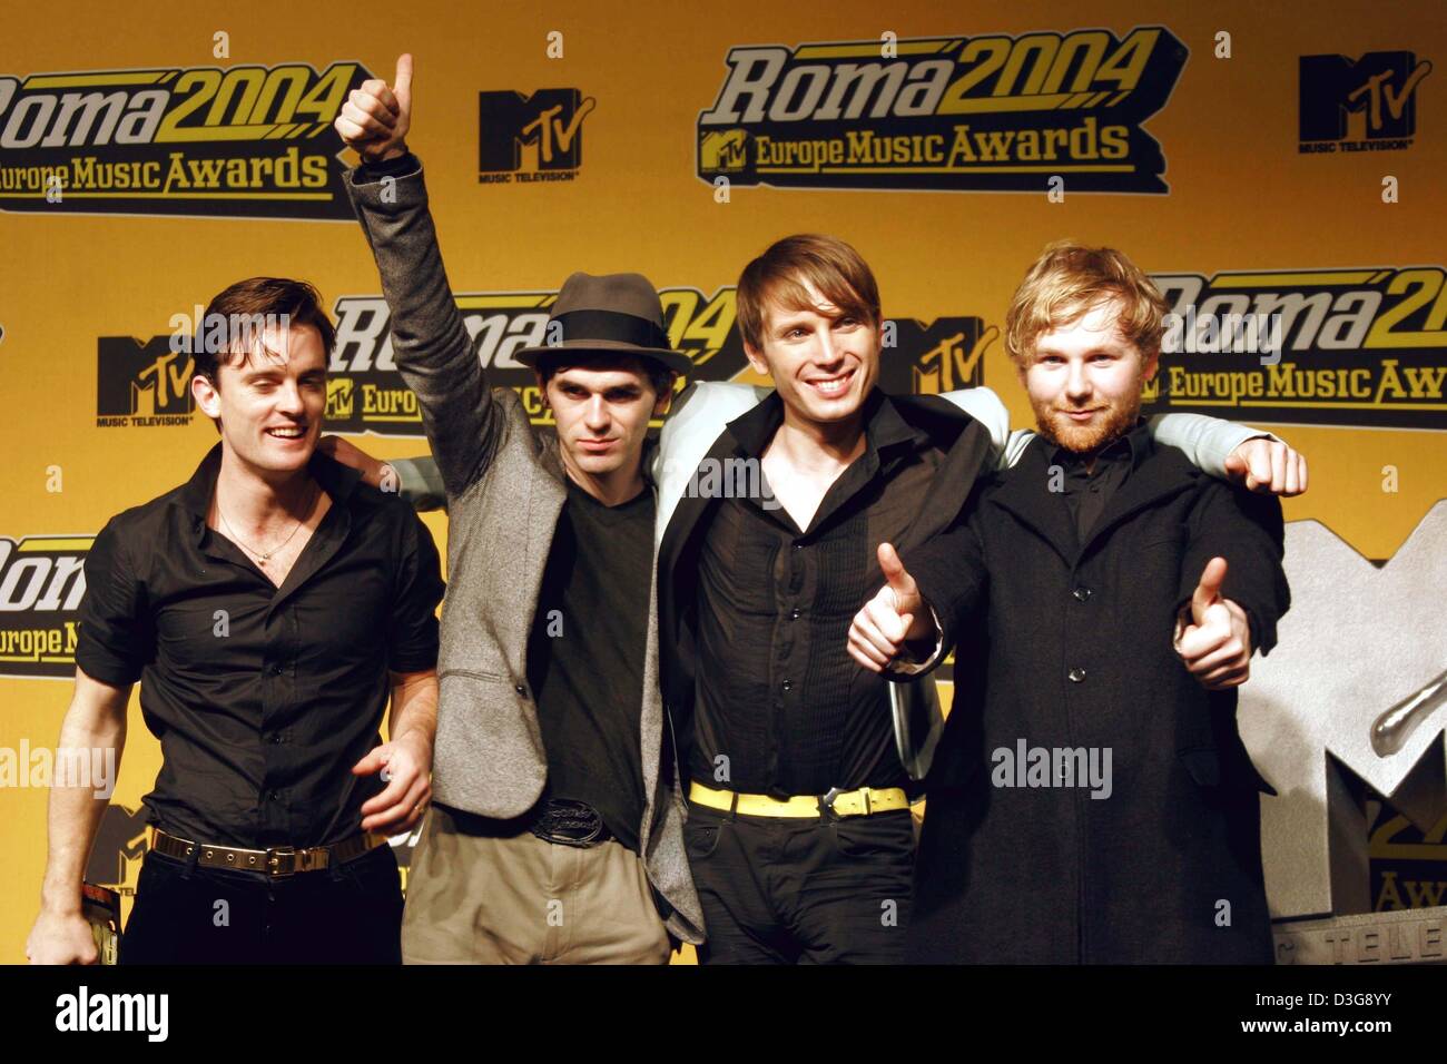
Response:
M865 452L809 528L777 499L726 498L703 536L689 774L706 786L776 796L906 786L888 680L855 664L845 643L883 583L878 544L926 504L943 453L883 392L864 417ZM761 459L781 423L774 394L731 424L737 453Z

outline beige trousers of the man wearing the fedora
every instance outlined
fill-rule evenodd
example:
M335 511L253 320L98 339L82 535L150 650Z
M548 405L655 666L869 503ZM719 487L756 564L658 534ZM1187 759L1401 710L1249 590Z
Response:
M427 811L402 912L404 964L667 964L669 934L638 856L466 829Z

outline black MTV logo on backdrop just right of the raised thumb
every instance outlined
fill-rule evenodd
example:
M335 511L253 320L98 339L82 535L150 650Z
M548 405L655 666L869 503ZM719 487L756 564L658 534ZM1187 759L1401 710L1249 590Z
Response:
M583 119L598 106L576 88L478 94L478 171L577 169Z

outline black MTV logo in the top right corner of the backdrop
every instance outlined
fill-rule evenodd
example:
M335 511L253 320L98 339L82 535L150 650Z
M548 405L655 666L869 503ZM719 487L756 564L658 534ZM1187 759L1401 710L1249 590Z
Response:
M1417 87L1433 65L1412 52L1299 58L1301 140L1378 140L1417 132Z

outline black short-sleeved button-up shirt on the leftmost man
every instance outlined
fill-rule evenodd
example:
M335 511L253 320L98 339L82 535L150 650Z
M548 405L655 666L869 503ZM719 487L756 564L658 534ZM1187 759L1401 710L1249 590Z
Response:
M437 664L437 549L398 497L318 453L331 508L276 588L205 524L220 468L217 444L96 537L75 663L140 679L162 750L152 824L200 843L334 843L385 786L352 766L381 741L388 670Z

